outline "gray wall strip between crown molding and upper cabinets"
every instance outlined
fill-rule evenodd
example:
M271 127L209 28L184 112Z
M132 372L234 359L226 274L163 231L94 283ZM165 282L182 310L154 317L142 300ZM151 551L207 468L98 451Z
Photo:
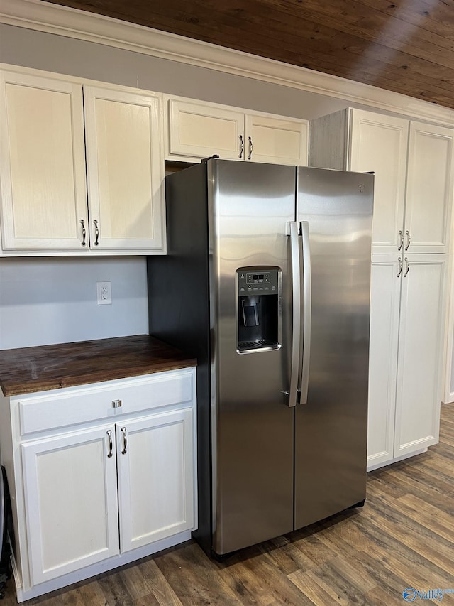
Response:
M2 24L0 61L297 118L348 105L322 94Z

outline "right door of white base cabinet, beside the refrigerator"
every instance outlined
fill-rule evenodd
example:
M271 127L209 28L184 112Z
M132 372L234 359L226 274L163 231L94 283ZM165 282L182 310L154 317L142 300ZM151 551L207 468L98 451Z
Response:
M116 426L121 551L194 528L192 408Z

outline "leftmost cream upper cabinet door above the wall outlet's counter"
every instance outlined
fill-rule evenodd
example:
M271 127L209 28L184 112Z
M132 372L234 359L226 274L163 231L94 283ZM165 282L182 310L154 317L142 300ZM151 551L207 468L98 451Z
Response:
M3 248L83 251L82 86L13 72L0 83Z

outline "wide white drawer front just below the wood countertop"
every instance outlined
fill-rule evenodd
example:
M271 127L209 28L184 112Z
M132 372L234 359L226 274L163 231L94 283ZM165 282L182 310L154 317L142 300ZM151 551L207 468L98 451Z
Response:
M192 402L195 369L18 396L21 435ZM121 406L114 407L114 401Z

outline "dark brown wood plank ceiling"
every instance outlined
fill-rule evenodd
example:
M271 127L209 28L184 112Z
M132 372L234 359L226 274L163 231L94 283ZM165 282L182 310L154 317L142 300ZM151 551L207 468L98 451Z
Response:
M454 0L52 0L454 109Z

